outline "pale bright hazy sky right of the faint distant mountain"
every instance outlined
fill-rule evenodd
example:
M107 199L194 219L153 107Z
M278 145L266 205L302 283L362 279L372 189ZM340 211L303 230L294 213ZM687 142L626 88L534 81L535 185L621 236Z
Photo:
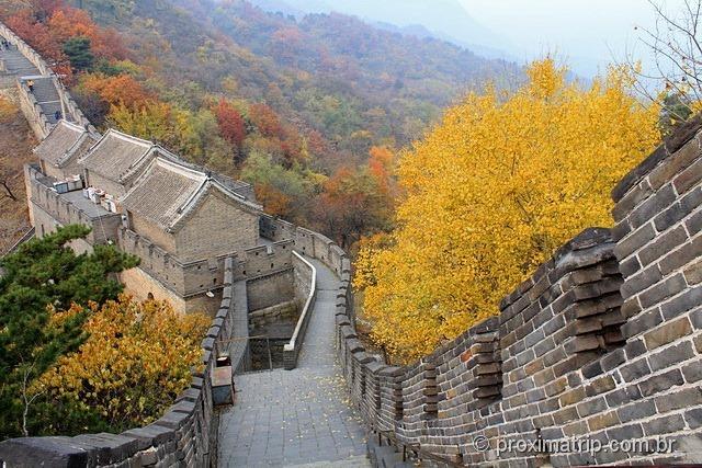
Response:
M511 43L522 59L556 52L593 75L626 50L646 56L634 25L652 26L647 0L460 0L479 23ZM659 1L676 11L683 0Z

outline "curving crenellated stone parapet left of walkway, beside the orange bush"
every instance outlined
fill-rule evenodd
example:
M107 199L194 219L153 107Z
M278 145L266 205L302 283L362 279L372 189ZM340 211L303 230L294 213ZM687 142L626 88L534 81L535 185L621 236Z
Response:
M68 467L208 467L216 466L217 416L211 374L215 358L235 354L230 338L240 327L237 309L246 306L245 289L234 283L234 261L226 260L220 309L202 342L202 370L154 423L122 434L75 437L22 437L0 443L0 464L11 468ZM235 294L237 295L235 304ZM238 355L237 355L238 356Z

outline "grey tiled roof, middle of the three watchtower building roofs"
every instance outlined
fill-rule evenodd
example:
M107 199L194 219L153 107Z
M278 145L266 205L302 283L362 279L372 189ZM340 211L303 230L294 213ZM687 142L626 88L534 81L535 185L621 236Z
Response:
M151 141L110 129L79 162L89 171L122 182L146 162L152 147Z

